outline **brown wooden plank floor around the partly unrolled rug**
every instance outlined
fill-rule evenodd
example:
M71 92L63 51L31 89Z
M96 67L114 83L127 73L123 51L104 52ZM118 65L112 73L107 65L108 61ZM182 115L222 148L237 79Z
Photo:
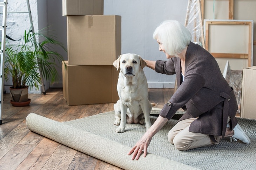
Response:
M149 100L162 108L173 95L173 89L149 89ZM114 110L114 103L68 106L62 89L49 89L46 95L29 94L31 104L14 107L9 94L4 94L0 125L0 170L71 170L107 169L120 170L114 165L98 160L77 150L61 145L28 130L26 117L29 113L56 120L69 121Z

